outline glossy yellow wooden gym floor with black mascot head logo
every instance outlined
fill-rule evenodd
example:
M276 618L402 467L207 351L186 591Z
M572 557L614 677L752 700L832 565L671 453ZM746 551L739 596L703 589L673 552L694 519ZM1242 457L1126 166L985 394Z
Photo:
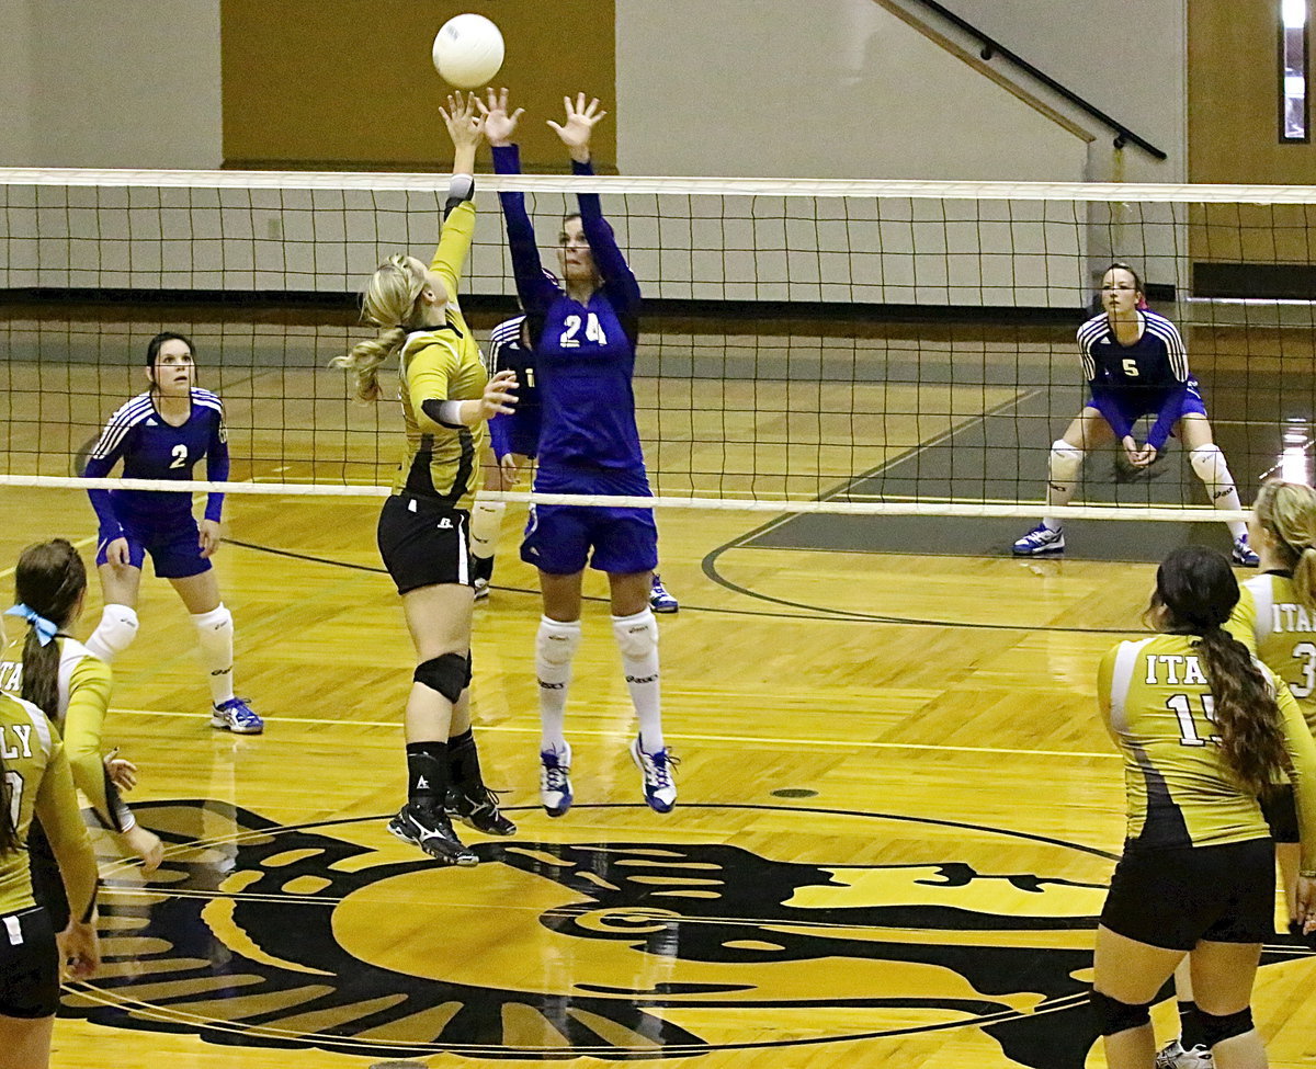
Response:
M1054 352L1070 361L1062 336ZM1049 345L1037 341L1033 378L1046 374ZM11 392L33 374L11 362ZM136 370L114 374L100 392L70 380L80 415L66 423L78 429L63 430L68 448L50 450L63 459L42 470L63 474L136 388ZM278 440L243 438L274 415L243 405L237 371L217 384L236 456L243 441L253 456L291 456L295 421ZM642 383L642 403L650 386L662 402L646 419L691 407L679 400L688 375ZM859 411L899 408L891 383L826 388ZM812 496L878 478L1024 392L986 377L900 388L908 415L854 424L844 458L799 450L776 484L792 477L790 488ZM274 392L266 383L246 396ZM713 456L704 432L717 428L691 420L687 470L713 479L747 457L771 471L783 456L765 452L771 434L784 425L800 441L783 423L796 405L769 416L762 396L749 400L757 412L733 405L740 423L721 424L753 430L740 434L746 452ZM39 463L46 432L11 424L12 470L22 457ZM690 459L699 449L707 463ZM238 477L300 474L261 463ZM404 789L412 656L379 570L376 508L230 498L216 566L237 619L238 691L267 717L262 737L208 727L186 612L166 583L143 582L142 631L116 664L107 737L139 764L137 811L171 845L143 881L103 844L105 968L66 994L55 1066L1104 1065L1084 991L1123 783L1094 674L1137 629L1152 563L926 554L882 545L882 520L865 552L853 532L820 533L825 524L783 533L790 524L765 529L750 513L665 511L662 571L682 600L662 620L678 808L658 816L640 800L625 683L607 606L592 600L567 721L578 800L550 820L537 804L538 602L516 558L513 507L474 657L486 777L507 789L520 829L467 833L482 864L451 870L384 831ZM1087 536L1094 545L1125 544L1104 532L1116 524L1088 527L1103 528ZM0 490L0 561L57 533L91 556L83 495ZM603 595L597 577L587 592ZM93 598L82 633L97 613ZM1277 939L1255 997L1273 1065L1316 1065L1313 982L1311 953ZM1158 1007L1158 1035L1171 1019L1173 1003Z

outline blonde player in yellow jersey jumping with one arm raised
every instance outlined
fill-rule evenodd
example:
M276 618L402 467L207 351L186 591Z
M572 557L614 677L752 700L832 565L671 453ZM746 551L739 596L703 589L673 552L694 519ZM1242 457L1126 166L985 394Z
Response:
M438 250L428 269L407 255L379 266L365 313L380 334L333 365L355 373L363 402L380 396L384 361L399 359L401 371L407 453L379 516L379 552L401 595L417 665L407 699L407 804L388 831L445 865L475 865L479 858L462 845L447 811L490 835L516 833L484 786L471 733L467 548L486 423L512 411L516 377L488 378L457 300L475 233L472 171L484 120L474 97L459 95L440 112L454 161Z

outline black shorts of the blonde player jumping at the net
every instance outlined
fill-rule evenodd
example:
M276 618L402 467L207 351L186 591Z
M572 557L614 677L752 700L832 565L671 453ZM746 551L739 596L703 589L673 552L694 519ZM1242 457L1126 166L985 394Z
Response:
M472 583L470 513L429 498L393 494L379 512L379 556L399 594L422 586Z

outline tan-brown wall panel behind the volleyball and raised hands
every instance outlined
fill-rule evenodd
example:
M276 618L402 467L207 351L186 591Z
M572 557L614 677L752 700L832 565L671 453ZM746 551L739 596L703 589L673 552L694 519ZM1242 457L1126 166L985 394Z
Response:
M615 167L613 0L222 0L225 166L445 166L447 86L429 49L466 11L503 30L497 82L526 109L525 169L566 169L545 120L561 121L562 95L578 90L611 112L595 154L600 170Z

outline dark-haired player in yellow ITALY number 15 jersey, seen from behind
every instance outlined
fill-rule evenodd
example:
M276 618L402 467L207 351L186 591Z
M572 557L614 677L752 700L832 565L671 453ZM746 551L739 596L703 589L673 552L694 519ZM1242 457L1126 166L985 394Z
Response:
M1221 554L1177 549L1148 610L1159 633L1120 642L1098 673L1129 807L1094 962L1111 1069L1153 1065L1149 1007L1190 951L1205 1047L1221 1069L1266 1065L1250 1002L1275 894L1257 796L1286 764L1303 843L1298 914L1316 929L1316 743L1288 689L1224 631L1237 602Z

